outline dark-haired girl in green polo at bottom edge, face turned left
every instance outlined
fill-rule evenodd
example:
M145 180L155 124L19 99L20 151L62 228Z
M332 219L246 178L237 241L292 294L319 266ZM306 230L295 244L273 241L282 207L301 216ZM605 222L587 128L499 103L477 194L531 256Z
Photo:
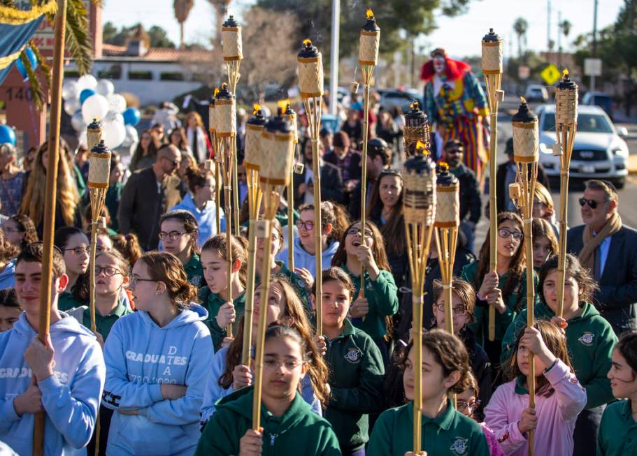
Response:
M381 413L375 422L367 456L413 454L415 369L422 369L422 450L429 455L489 456L485 434L477 422L454 409L450 393L468 387L468 353L462 341L444 330L422 335L422 365L414 366L413 341L403 358L406 405Z

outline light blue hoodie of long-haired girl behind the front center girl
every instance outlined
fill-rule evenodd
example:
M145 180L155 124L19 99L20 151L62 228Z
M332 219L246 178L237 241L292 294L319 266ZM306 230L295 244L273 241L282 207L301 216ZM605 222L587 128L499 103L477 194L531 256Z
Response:
M253 350L254 351L254 350ZM206 390L203 392L203 406L201 406L201 425L206 424L210 420L210 416L215 413L216 404L219 399L226 397L234 392L232 385L229 388L222 388L219 384L219 378L226 370L228 357L228 347L222 347L215 353L213 362L210 363L210 374L206 383ZM312 411L319 416L323 415L321 402L314 394L310 377L304 376L301 380L301 397L310 404Z

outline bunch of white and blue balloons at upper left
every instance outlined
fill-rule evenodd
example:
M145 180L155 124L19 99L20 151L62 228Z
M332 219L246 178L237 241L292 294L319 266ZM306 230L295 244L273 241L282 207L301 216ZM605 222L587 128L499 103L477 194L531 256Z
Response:
M113 82L83 75L78 80L65 79L62 84L64 110L71 116L71 126L78 132L80 145L87 145L86 128L100 119L107 147L129 147L138 142L135 126L139 123L137 108L127 108L126 99L115 93Z

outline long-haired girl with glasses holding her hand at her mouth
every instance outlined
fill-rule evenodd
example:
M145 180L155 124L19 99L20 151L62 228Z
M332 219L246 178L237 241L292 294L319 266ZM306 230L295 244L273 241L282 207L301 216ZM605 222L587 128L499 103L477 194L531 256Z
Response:
M356 287L355 301L350 308L352 324L366 332L375 341L384 364L387 365L389 347L385 334L387 323L398 311L398 295L392 276L385 241L371 221L361 233L360 221L355 221L345 230L341 243L332 258L332 266L341 267L350 275ZM361 294L361 271L364 277L364 297Z

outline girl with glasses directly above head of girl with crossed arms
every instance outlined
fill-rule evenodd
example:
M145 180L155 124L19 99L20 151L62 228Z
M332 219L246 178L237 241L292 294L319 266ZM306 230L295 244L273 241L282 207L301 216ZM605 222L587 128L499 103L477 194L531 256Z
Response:
M194 216L183 209L166 212L159 219L159 240L164 250L179 258L188 281L201 288L205 285L197 246L199 226Z

